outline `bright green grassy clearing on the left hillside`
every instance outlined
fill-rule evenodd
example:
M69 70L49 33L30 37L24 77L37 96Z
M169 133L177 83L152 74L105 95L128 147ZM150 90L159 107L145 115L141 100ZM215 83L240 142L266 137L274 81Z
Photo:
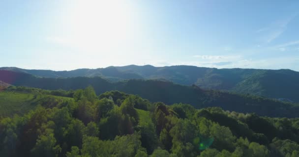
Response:
M13 116L14 114L23 115L31 109L34 109L38 104L42 104L42 100L50 100L53 103L61 103L72 98L57 97L57 96L34 96L31 93L20 92L0 92L0 117ZM54 100L54 101L53 101Z

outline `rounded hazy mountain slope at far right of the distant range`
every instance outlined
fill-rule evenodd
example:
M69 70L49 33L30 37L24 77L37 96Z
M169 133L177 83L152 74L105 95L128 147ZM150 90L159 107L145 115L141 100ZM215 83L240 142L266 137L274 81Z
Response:
M239 82L234 90L272 98L293 98L298 102L299 75L291 70L267 70ZM292 100L292 99L291 99Z

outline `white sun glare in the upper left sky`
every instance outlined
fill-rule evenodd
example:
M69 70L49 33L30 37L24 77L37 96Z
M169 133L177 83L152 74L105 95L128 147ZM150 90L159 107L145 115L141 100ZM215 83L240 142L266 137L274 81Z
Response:
M77 0L66 4L63 36L53 40L89 52L125 46L134 33L132 5L121 0Z

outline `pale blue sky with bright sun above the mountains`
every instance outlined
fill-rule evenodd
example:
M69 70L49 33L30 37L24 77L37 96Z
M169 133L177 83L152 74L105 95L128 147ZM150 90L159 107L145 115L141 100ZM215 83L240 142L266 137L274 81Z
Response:
M0 0L0 67L299 71L299 0Z

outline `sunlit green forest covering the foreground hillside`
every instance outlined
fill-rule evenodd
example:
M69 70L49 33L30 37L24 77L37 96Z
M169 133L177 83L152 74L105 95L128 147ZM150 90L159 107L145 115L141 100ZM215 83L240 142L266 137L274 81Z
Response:
M96 95L91 86L11 87L0 110L1 157L299 157L299 118Z

